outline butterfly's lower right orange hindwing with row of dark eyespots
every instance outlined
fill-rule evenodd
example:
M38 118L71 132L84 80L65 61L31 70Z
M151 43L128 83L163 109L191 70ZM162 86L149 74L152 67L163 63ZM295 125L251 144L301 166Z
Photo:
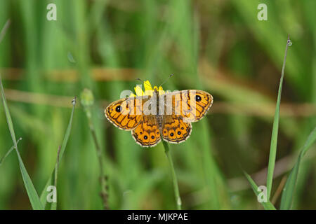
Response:
M165 141L178 144L190 137L192 125L185 123L181 116L165 115L162 122L162 137Z

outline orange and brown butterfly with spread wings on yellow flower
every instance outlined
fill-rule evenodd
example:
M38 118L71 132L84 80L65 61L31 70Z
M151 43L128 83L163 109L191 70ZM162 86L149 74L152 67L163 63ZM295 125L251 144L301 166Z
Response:
M137 95L112 102L105 109L107 120L131 131L143 147L156 146L162 139L171 144L187 140L191 123L202 119L213 104L212 95L202 90L164 92L161 86L152 89L148 80L144 86L145 93L137 86Z

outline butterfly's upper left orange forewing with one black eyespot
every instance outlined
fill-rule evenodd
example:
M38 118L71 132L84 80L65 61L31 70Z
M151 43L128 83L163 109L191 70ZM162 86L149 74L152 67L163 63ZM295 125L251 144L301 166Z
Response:
M119 99L105 109L105 117L121 130L133 130L140 123L144 100L140 97Z

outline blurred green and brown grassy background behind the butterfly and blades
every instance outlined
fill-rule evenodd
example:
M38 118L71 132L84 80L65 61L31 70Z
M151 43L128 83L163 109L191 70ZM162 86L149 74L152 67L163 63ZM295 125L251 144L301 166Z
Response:
M48 3L57 20L46 20ZM259 3L268 20L259 21ZM316 125L316 1L1 0L0 72L19 149L37 192L53 171L71 100L88 87L110 209L175 209L164 147L143 149L104 116L135 79L213 94L190 139L171 145L183 209L263 209L242 169L265 185L287 34L272 203ZM0 29L1 29L0 28ZM13 145L0 106L0 157ZM315 146L300 167L293 209L316 209ZM103 209L88 120L76 106L58 169L58 209ZM16 153L0 166L0 209L31 209Z

